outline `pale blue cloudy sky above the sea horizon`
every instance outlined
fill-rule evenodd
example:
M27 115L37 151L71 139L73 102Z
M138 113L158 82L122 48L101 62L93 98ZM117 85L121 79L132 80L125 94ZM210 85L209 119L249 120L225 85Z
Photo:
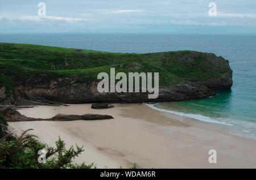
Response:
M256 33L256 1L0 0L0 33L31 32Z

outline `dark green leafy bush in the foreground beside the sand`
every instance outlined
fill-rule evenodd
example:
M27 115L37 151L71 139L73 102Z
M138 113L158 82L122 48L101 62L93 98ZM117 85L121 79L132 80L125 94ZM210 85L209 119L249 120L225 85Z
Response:
M30 130L24 131L22 135L16 138L14 136L10 138L11 135L6 134L0 139L0 168L92 168L93 164L72 164L73 159L84 151L83 147L76 145L76 149L73 146L66 149L65 143L60 137L56 141L56 148L49 147L36 140L36 136L27 134L27 131ZM46 149L47 151L45 163L38 161L40 149Z

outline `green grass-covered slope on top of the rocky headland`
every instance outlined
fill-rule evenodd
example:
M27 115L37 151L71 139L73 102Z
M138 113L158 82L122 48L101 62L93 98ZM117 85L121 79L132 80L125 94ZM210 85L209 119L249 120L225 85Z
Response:
M160 87L216 79L231 71L228 61L214 54L179 51L148 54L107 53L51 46L0 43L0 87L14 92L15 77L46 74L51 78L96 80L99 72L159 72ZM71 82L61 83L69 85Z

